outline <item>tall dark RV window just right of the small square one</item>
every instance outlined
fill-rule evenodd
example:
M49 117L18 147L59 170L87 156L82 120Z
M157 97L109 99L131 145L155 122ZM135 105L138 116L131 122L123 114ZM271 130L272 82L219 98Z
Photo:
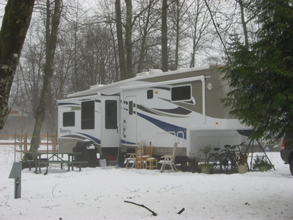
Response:
M81 129L94 129L94 101L81 103Z

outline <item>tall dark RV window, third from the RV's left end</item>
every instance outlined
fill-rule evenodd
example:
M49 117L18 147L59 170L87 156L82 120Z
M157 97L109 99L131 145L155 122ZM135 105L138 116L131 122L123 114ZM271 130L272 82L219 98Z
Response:
M117 129L117 101L105 101L105 129Z

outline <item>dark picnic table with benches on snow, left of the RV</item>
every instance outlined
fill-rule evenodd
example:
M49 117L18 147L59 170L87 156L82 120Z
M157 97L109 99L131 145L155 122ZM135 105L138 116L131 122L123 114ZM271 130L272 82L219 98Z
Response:
M34 172L37 173L37 170L39 168L39 173L41 173L41 164L44 164L46 165L45 175L48 174L48 168L50 163L51 164L59 163L61 165L61 170L63 169L63 163L67 163L68 164L67 171L70 171L70 166L72 171L74 170L73 163L79 163L79 171L81 171L81 163L88 163L88 161L74 161L74 156L77 154L82 154L82 152L30 152L30 154L34 155L35 157L34 164L35 164L36 170ZM63 158L59 157L61 154L67 154L68 160L64 160ZM44 155L46 155L47 157L42 157Z

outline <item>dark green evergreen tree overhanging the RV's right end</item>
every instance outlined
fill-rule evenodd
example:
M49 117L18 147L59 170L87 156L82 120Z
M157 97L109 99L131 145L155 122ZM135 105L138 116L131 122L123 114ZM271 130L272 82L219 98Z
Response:
M223 72L232 88L225 106L255 130L252 138L293 132L293 2L257 0L259 40L239 45Z

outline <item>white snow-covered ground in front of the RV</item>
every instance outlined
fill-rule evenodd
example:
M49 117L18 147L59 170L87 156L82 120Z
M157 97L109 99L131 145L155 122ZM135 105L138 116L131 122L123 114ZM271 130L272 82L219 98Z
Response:
M14 146L0 146L0 219L292 219L293 176L279 152L267 155L276 170L229 175L114 166L51 167L47 175L24 169L21 199L14 199L14 179L8 179Z

